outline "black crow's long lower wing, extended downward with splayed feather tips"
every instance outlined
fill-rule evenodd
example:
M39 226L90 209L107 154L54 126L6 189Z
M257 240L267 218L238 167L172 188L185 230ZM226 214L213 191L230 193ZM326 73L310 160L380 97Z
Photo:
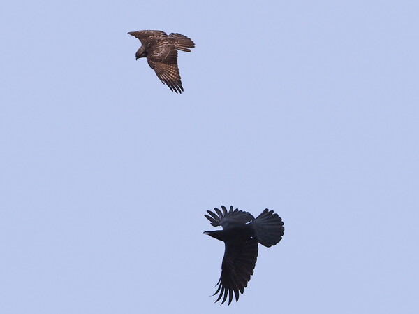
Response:
M250 276L253 275L256 259L258 258L258 240L250 238L247 241L228 241L224 252L221 277L214 293L219 293L216 302L223 298L223 304L228 297L228 304L233 300L239 300L239 292L243 294L247 287Z

